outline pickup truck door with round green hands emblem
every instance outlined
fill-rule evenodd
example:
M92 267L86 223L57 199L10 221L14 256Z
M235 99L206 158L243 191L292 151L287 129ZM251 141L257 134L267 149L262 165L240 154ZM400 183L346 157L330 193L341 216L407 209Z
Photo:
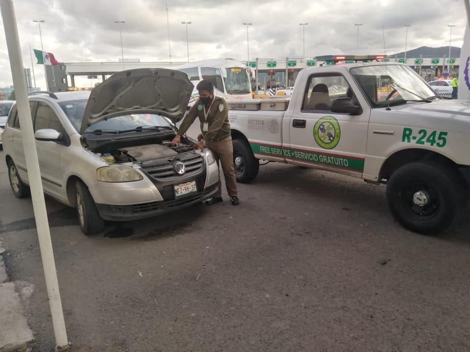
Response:
M301 109L289 117L290 141L284 146L289 163L362 176L371 110L353 89L355 83L338 72L308 78L303 101L296 104ZM333 101L345 97L360 106L357 115L331 111Z

